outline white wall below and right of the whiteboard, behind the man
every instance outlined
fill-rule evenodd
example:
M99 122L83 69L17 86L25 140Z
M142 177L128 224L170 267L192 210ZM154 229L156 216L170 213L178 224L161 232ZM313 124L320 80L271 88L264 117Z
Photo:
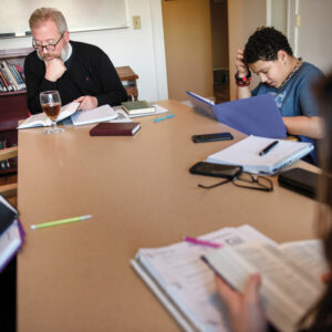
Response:
M129 28L72 32L71 39L100 46L115 66L129 65L139 76L139 100L166 100L168 92L160 0L127 0L127 9ZM141 15L141 30L133 29L133 15ZM31 37L0 39L0 50L28 46L31 46Z

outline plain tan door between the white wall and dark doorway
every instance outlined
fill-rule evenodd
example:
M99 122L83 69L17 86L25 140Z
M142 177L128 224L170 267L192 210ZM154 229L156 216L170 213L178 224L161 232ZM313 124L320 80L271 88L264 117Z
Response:
M163 0L169 98L187 100L186 90L212 96L209 0Z

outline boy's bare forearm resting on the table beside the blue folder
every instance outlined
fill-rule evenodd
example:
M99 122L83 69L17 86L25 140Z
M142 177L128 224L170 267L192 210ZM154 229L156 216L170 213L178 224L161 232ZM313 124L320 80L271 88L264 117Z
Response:
M291 135L301 135L314 139L324 136L322 120L319 116L283 116L287 132Z

